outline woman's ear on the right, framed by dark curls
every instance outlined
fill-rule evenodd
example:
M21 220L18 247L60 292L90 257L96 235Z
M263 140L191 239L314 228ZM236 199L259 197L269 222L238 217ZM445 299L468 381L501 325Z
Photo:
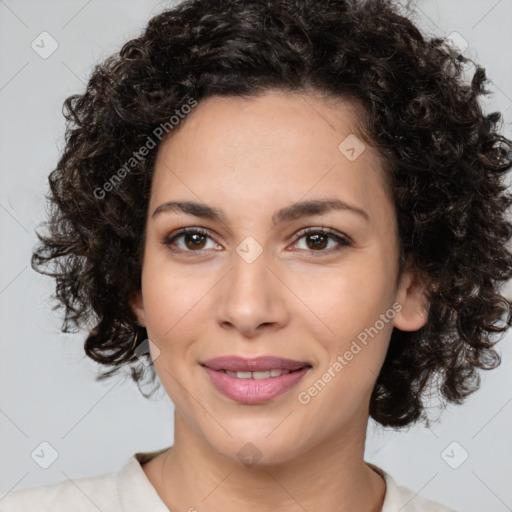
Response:
M408 264L402 273L395 300L401 305L393 322L397 329L417 331L427 323L429 303L425 287L412 265Z

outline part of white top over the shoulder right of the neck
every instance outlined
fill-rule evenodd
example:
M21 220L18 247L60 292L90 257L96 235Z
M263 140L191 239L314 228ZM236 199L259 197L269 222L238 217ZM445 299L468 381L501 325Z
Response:
M380 473L386 482L386 495L381 512L457 512L442 503L424 498L408 487L397 485L389 473L375 464L366 464Z

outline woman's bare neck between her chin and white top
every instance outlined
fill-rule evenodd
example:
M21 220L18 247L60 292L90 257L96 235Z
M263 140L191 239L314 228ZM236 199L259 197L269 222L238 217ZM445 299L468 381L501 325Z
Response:
M284 462L249 466L215 451L176 412L174 445L144 471L170 510L380 512L386 486L364 463L366 422Z

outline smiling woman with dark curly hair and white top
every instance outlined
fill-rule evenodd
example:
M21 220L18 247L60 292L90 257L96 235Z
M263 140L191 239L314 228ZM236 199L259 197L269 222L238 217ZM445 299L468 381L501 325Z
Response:
M510 141L466 61L386 0L189 0L98 66L33 266L174 444L2 510L453 510L363 454L511 325Z

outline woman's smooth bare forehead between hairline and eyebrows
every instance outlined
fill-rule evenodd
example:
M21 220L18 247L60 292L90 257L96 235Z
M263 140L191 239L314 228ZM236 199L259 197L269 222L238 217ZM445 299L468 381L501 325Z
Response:
M210 97L160 146L150 208L190 199L270 216L334 195L382 216L390 208L383 162L359 122L353 104L309 94Z

